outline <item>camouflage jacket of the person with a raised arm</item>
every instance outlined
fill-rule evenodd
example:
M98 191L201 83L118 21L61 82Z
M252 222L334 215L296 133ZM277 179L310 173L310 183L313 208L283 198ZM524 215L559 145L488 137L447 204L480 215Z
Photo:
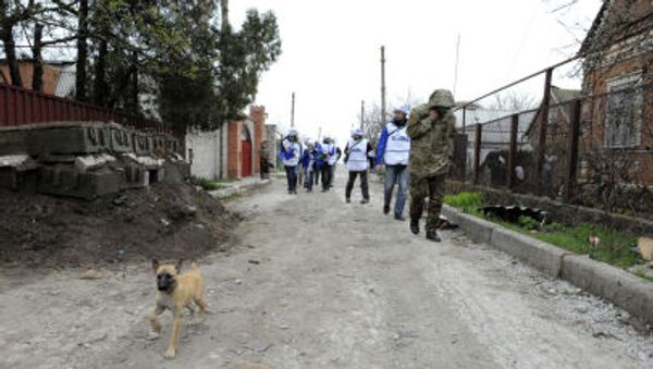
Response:
M429 119L429 104L421 104L410 112L410 175L431 177L448 172L454 152L456 118L448 111L436 121Z

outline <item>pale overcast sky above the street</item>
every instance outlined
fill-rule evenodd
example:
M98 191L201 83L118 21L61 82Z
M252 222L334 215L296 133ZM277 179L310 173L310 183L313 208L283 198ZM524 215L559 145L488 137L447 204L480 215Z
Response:
M261 79L256 103L268 123L289 127L291 94L295 123L317 138L318 127L342 143L358 122L360 100L380 101L380 47L386 50L389 104L411 95L423 101L435 88L454 88L456 42L460 35L456 99L469 100L562 61L577 50L601 0L579 0L552 12L563 0L232 0L230 19L238 26L245 11L273 11L283 53ZM554 75L554 84L579 86ZM541 81L519 88L540 94ZM390 108L389 108L390 110Z

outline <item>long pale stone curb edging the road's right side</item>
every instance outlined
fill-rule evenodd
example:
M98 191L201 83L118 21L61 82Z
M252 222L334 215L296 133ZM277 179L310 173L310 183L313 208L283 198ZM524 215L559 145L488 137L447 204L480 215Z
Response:
M475 242L488 244L653 323L653 283L621 269L576 255L498 224L443 206L442 214Z

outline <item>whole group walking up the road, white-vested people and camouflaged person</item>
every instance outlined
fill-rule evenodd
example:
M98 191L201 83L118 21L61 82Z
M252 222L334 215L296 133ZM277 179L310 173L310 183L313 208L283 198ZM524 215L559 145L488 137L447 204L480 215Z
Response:
M393 110L393 119L383 127L377 148L365 137L362 130L356 128L344 150L348 171L345 186L345 200L352 201L352 192L357 180L360 182L362 199L370 201L368 173L372 167L384 171L383 213L393 211L394 219L405 221L404 208L410 194L410 231L420 232L426 199L428 217L426 236L440 242L440 211L444 197L446 173L453 159L455 116L452 109L455 100L451 91L438 89L429 101L412 110L398 107ZM288 194L297 194L299 173L304 174L304 187L311 192L321 176L322 192L333 187L335 167L342 151L332 137L322 142L307 139L299 142L297 131L292 128L280 146L280 159L286 171ZM391 208L395 185L397 196Z

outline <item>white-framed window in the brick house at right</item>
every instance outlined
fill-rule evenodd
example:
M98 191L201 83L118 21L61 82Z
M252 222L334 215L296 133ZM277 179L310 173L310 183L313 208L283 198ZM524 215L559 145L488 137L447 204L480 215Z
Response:
M607 82L605 146L631 148L640 145L644 94L641 73Z

